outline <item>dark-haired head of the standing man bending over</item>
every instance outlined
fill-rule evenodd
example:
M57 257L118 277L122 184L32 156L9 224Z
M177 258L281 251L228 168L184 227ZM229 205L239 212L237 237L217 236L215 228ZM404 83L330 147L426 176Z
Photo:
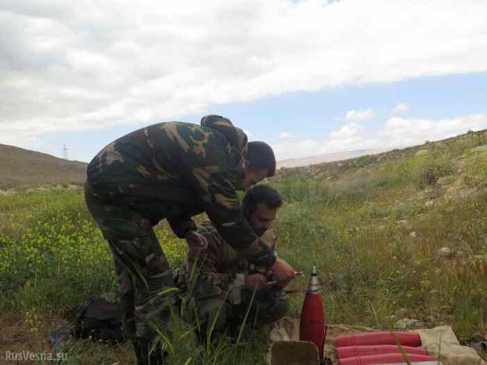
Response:
M257 182L274 176L276 158L271 146L265 142L249 142L245 155L245 174L237 188L246 190Z

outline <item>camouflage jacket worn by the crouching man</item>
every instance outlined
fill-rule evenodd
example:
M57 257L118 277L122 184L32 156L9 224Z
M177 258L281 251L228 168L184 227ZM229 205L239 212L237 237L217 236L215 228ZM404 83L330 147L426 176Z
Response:
M211 222L202 223L198 232L206 237L208 248L201 257L193 255L191 251L188 253L179 269L178 287L183 291L190 291L197 299L223 298L226 291L243 289L245 275L267 275L265 267L254 266L235 251ZM262 235L261 241L276 256L276 237L271 230Z

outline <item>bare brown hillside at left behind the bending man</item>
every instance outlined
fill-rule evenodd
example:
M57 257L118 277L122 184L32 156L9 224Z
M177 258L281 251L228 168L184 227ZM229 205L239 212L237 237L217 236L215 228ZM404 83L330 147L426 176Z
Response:
M87 164L0 144L0 189L81 185Z

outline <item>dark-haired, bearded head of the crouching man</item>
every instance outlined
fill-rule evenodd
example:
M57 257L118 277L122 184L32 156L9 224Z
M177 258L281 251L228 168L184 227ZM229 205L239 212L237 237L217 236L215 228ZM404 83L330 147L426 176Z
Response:
M270 228L282 205L282 197L269 185L256 185L249 189L242 201L245 218L259 237Z

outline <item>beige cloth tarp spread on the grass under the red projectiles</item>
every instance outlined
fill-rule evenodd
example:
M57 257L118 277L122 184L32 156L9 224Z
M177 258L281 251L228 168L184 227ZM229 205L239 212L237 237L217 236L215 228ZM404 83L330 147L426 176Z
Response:
M327 341L324 344L324 354L331 358L333 365L339 365L336 358L335 339L338 336L357 332L379 332L372 328L354 325L332 325L327 326ZM451 327L444 325L431 330L413 330L421 337L422 348L426 349L431 356L439 356L443 365L487 365L474 349L467 346L460 346L459 340ZM270 332L270 343L267 348L267 364L271 364L271 347L276 341L297 341L299 340L299 319L283 318L274 324Z

